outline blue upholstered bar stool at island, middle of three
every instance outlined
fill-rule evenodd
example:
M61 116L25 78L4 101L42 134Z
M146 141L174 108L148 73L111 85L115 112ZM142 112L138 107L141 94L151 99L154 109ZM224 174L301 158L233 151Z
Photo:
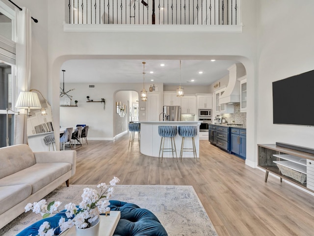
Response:
M158 158L160 157L160 152L161 152L161 162L162 162L162 157L163 157L163 152L172 152L172 158L173 152L176 153L176 158L178 162L178 156L177 156L177 149L176 149L176 143L175 143L175 136L177 135L177 126L171 126L171 125L159 125L158 126L158 134L161 137L160 141L160 148L159 148L159 155ZM165 138L170 138L171 141L171 148L164 148L165 146ZM162 148L161 148L162 144Z

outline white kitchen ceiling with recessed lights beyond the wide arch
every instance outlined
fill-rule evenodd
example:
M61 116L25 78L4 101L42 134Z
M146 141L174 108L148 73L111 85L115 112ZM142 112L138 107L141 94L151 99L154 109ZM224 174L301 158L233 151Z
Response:
M180 83L180 60L75 59L64 62L61 70L65 70L64 83L143 83L143 61L146 62L145 82L154 80L168 86ZM210 85L228 75L227 69L234 63L238 62L181 60L181 85ZM63 72L60 71L62 82Z

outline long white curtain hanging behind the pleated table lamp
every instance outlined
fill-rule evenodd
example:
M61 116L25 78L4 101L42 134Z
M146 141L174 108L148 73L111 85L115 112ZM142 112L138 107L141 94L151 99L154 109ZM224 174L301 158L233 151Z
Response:
M31 62L31 15L30 11L22 7L22 11L16 9L16 98L21 91L30 88L30 62ZM22 114L27 113L20 109ZM26 130L27 116L15 116L15 139L14 144L27 144Z

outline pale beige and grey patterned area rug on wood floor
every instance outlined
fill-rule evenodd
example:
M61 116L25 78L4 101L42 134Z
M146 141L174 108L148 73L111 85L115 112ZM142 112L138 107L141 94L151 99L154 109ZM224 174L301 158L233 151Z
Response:
M62 185L47 195L47 202L78 204L85 187L96 185ZM117 185L112 200L134 203L152 211L169 236L217 236L217 233L192 186ZM63 208L63 207L61 207ZM14 236L40 220L40 214L26 212L0 230L0 235Z

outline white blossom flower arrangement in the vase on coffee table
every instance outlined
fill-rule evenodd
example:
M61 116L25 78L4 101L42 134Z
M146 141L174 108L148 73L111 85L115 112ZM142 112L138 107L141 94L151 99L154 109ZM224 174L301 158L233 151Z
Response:
M97 188L100 188L100 193L92 188L84 188L81 195L82 201L78 207L74 203L65 205L64 208L66 211L64 213L70 219L65 221L65 218L61 217L58 223L61 232L72 228L74 225L79 229L90 228L92 223L99 218L100 214L110 211L108 199L113 194L113 186L118 182L120 182L120 179L113 177L109 186L105 183L98 184ZM36 214L40 213L43 218L47 218L53 213L58 213L60 205L61 202L58 201L52 201L47 204L46 200L43 199L33 204L28 203L25 207L25 212L32 210ZM49 222L45 221L40 226L37 236L54 236L54 231L57 228L51 229Z

